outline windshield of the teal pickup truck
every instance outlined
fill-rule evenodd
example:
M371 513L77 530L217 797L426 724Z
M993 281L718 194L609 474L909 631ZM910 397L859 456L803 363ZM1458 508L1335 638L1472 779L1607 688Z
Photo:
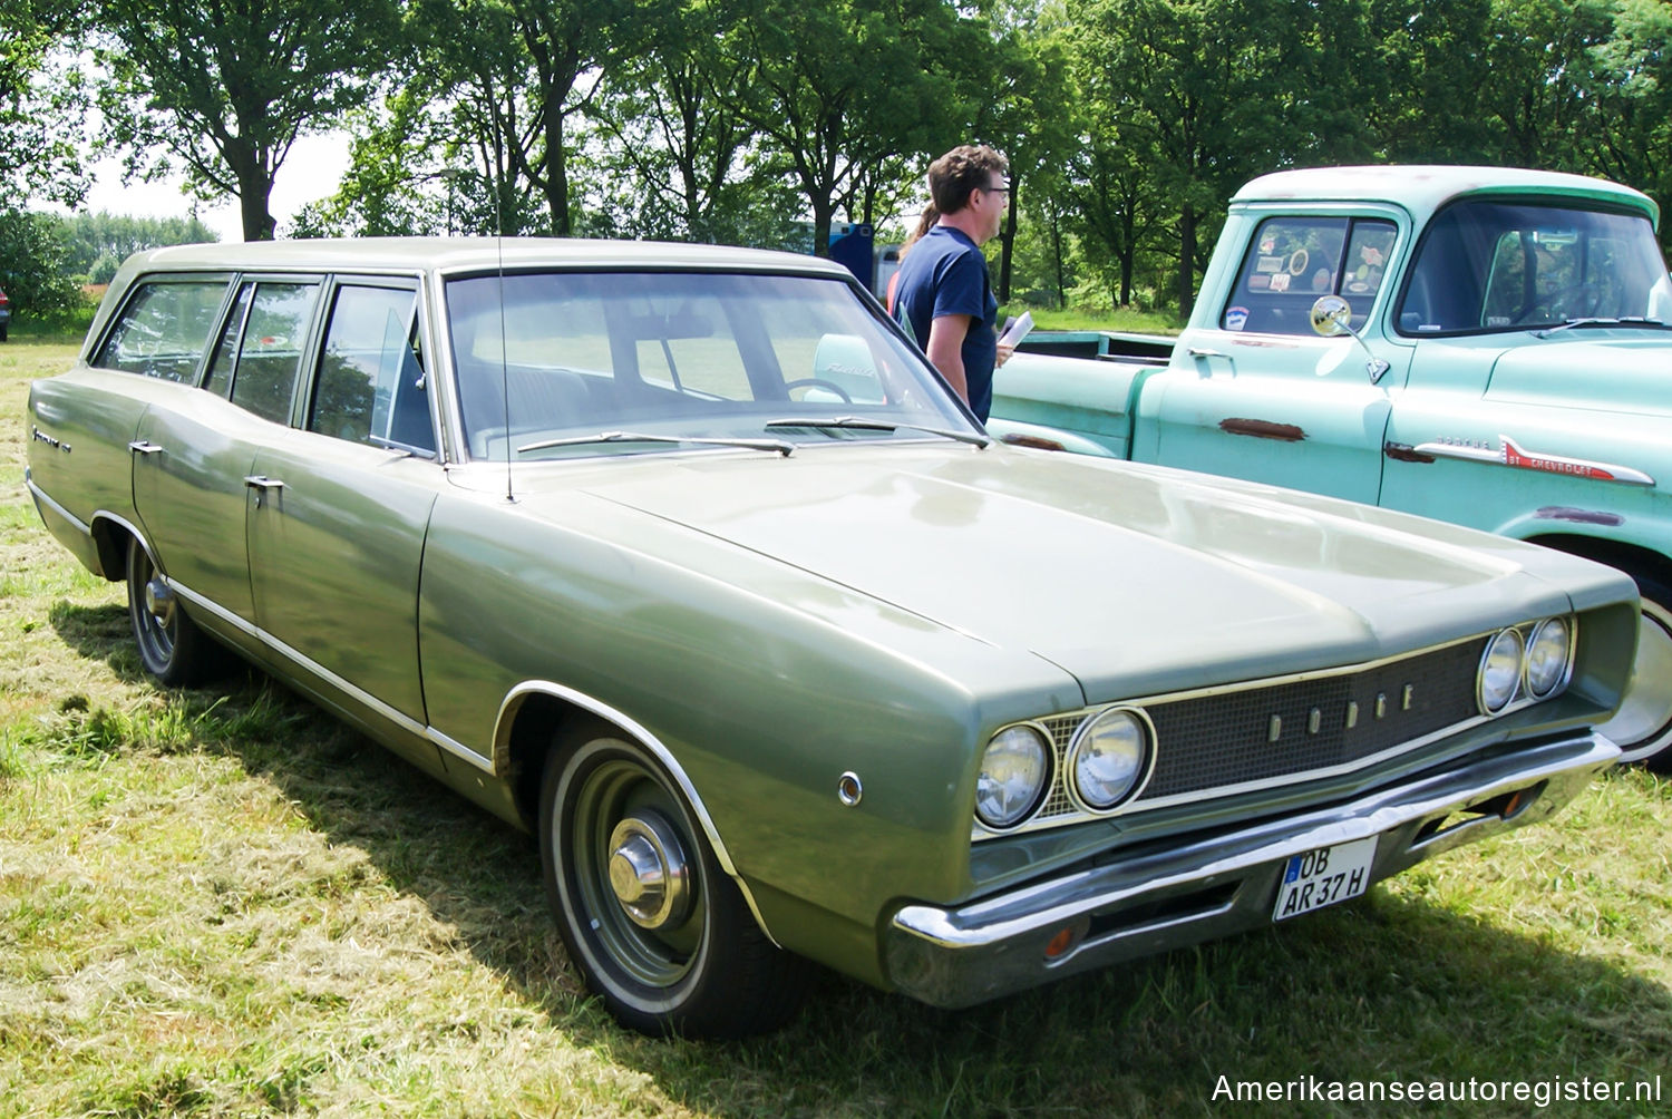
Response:
M1401 335L1537 330L1578 319L1672 321L1672 281L1642 214L1460 202L1416 251Z

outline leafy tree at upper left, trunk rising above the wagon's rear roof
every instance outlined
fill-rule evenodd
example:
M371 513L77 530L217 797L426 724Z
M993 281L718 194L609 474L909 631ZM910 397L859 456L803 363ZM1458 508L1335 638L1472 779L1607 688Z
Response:
M105 0L100 109L129 174L179 169L271 239L273 177L296 137L368 95L398 45L395 0Z

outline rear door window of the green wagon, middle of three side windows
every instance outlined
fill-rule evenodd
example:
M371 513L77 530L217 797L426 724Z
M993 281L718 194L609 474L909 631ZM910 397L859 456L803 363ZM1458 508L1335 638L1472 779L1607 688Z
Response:
M263 420L289 423L318 283L246 283L216 346L209 383ZM227 393L231 390L231 393Z

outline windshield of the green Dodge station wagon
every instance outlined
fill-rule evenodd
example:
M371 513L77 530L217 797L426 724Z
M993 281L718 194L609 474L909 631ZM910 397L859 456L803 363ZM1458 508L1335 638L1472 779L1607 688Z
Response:
M841 279L488 274L446 311L473 458L980 432Z

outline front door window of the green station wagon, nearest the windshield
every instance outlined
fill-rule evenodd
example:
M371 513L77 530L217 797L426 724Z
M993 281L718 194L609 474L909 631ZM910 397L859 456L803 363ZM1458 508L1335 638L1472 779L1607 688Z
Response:
M308 430L435 453L416 293L344 284L331 303Z

